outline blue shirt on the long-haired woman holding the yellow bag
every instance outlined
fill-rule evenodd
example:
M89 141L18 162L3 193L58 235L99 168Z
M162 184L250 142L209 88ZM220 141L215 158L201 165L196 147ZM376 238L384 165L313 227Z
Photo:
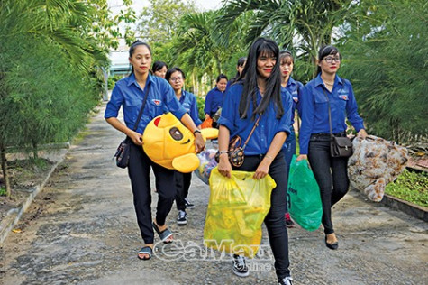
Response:
M239 105L241 101L243 85L234 84L229 88L225 97L222 109L222 115L218 121L227 127L232 136L238 134L241 136L242 144L245 142L250 134L254 121L251 121L251 115L248 115L246 119L240 118ZM270 143L274 136L279 132L290 133L290 118L291 118L291 95L285 88L281 89L282 104L284 107L284 115L277 119L277 113L273 102L270 102L269 106L265 110L265 113L261 116L259 126L256 127L254 133L245 148L245 155L259 155L265 154L269 150ZM260 93L257 95L257 103L261 100ZM248 114L252 114L252 105L250 104ZM257 118L256 118L257 119Z

